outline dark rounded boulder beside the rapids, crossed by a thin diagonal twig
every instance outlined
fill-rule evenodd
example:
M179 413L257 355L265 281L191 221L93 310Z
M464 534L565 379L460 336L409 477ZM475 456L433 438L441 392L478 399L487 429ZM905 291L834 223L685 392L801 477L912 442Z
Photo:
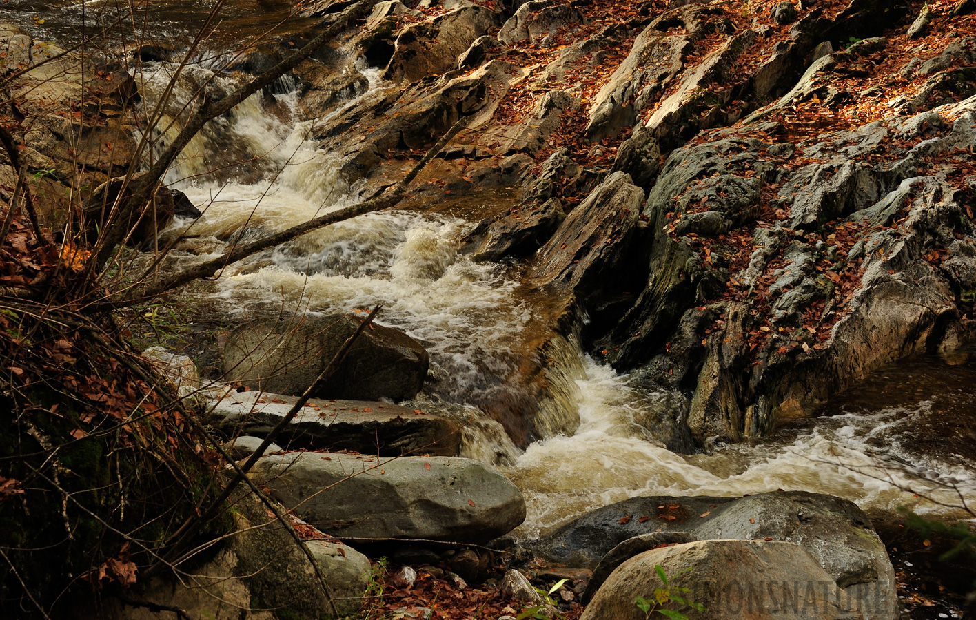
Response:
M359 326L351 315L255 320L224 341L224 379L279 394L302 394ZM399 329L372 325L352 345L346 361L316 386L324 398L403 401L427 376L429 357Z

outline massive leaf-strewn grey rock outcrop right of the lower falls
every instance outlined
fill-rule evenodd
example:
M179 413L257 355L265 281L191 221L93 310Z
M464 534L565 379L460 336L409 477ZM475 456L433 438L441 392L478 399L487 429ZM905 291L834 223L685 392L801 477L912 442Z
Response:
M607 357L627 367L659 351L668 364L654 367L655 380L692 392L688 423L705 442L765 434L777 415L936 346L941 322L955 316L954 291L970 284L911 257L968 252L971 223L952 215L961 209L955 190L922 173L920 158L969 140L974 105L942 108L957 119L952 130L931 116L892 118L802 151L734 131L674 151L643 211L655 236L650 277L602 343ZM869 158L886 136L916 137L889 149L890 159ZM812 159L784 167L803 156ZM708 320L686 338L679 326L699 312L691 306ZM685 339L696 344L671 354Z

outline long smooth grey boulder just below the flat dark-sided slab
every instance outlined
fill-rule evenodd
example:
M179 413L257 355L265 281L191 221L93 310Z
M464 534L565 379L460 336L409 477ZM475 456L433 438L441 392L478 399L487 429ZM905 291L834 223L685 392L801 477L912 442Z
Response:
M518 488L467 458L292 452L264 456L251 476L305 522L344 540L480 544L525 520Z

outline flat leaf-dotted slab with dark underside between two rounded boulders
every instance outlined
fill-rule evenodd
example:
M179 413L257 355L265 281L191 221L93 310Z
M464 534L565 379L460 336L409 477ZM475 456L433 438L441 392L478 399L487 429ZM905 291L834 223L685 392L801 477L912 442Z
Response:
M297 401L294 396L257 390L231 392L211 404L210 423L227 435L264 437ZM451 420L421 409L372 401L309 399L275 442L292 448L379 452L382 456L456 456L461 433Z

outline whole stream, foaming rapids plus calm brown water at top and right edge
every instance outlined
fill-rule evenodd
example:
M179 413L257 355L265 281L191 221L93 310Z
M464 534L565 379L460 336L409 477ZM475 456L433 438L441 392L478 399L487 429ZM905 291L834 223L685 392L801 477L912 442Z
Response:
M128 33L184 45L209 5L140 6L126 23ZM41 6L33 0L11 0L3 10L38 36L60 42L78 39L83 18L90 31L118 11L108 3ZM237 45L245 33L263 32L290 10L279 2L229 2L208 53ZM141 76L147 102L168 70L160 66L159 77ZM208 79L208 71L203 62L183 79ZM384 88L379 71L363 71L372 88ZM194 139L168 175L205 210L190 229L199 235L195 247L178 257L220 252L238 233L247 238L280 230L357 199L356 188L339 178L336 158L307 139L315 119L299 117L296 95L275 97L274 114L261 97L235 108L218 121L220 131ZM227 152L254 157L256 164L231 178L206 174L214 154ZM476 263L462 252L473 225L471 205L455 207L373 213L305 235L225 270L217 296L227 312L242 314L282 307L348 312L382 302L383 321L427 347L441 398L482 405L518 399L517 386L507 380L520 368L512 351L535 342L546 304L523 294L517 270ZM919 359L885 368L838 395L818 417L784 425L774 437L689 456L666 449L651 430L649 420L667 407L669 395L641 391L626 374L582 355L572 338L557 343L549 357L559 385L546 405L554 423L542 441L519 450L487 416L466 430L465 454L497 463L525 494L529 515L517 535L538 535L639 494L803 489L866 508L907 505L947 516L959 514L954 507L960 501L976 503L974 364Z

